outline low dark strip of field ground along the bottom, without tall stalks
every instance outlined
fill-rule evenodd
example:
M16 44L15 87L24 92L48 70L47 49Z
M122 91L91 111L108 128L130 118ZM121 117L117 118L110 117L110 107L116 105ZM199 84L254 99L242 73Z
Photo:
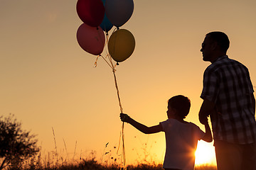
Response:
M50 154L50 153L49 153ZM52 152L53 154L53 152ZM20 165L9 166L6 170L119 170L122 169L120 164L115 161L100 163L95 157L89 157L88 159L78 159L72 162L67 162L62 157L56 159L56 157L42 159L41 154L37 157L23 162ZM55 155L56 156L56 155ZM50 158L50 159L49 159ZM127 170L163 170L161 164L154 164L147 162L138 163L136 165L127 165ZM195 170L217 170L213 165L197 165Z

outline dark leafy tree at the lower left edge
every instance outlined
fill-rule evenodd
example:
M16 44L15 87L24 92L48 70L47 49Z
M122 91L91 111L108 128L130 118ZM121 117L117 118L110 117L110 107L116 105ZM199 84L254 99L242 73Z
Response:
M36 135L21 129L13 114L0 117L0 169L18 165L39 152Z

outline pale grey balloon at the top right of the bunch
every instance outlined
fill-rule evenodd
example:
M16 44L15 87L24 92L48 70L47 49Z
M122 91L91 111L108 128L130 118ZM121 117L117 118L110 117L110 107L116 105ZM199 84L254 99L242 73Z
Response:
M107 18L117 27L120 27L131 18L134 11L133 0L107 0L105 4Z

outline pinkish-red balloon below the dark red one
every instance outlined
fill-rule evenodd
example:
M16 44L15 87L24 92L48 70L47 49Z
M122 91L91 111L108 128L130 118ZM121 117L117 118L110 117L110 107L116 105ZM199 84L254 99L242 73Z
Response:
M100 55L105 45L105 34L102 28L87 26L85 23L78 28L77 40L80 47L92 55Z

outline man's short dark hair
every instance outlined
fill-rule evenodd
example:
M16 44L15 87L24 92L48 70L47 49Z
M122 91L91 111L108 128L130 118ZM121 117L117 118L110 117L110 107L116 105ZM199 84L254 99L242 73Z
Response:
M220 47L220 50L222 50L223 52L228 51L228 48L230 46L228 35L220 31L213 31L206 34L206 36L208 36L210 40L217 42L218 46Z

